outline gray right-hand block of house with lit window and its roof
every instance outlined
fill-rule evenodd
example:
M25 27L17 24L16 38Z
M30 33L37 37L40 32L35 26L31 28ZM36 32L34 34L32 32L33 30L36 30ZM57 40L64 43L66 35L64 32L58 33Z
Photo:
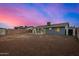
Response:
M50 35L68 35L68 23L52 24L46 27L46 33Z

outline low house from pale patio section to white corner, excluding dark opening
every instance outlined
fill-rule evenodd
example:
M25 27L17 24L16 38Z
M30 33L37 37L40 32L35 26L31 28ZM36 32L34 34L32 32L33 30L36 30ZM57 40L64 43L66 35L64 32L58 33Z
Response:
M47 25L37 26L34 28L33 33L35 34L50 34L50 35L68 35L69 24L61 23L61 24L51 24L50 22Z

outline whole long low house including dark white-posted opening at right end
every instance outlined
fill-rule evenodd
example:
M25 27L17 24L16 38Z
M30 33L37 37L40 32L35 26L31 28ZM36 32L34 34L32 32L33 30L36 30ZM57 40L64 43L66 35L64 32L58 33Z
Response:
M69 23L51 24L47 22L47 25L35 27L33 29L33 34L75 36L76 28L69 27Z

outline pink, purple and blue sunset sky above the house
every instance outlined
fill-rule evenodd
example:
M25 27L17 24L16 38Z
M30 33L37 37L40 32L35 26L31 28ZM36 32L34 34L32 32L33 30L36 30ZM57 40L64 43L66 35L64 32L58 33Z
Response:
M77 3L0 3L0 28L68 22L79 27Z

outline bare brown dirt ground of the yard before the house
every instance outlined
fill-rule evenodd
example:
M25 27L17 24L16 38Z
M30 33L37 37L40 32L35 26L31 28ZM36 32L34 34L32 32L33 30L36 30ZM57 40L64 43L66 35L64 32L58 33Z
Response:
M79 42L73 37L16 34L0 36L3 56L79 56Z

